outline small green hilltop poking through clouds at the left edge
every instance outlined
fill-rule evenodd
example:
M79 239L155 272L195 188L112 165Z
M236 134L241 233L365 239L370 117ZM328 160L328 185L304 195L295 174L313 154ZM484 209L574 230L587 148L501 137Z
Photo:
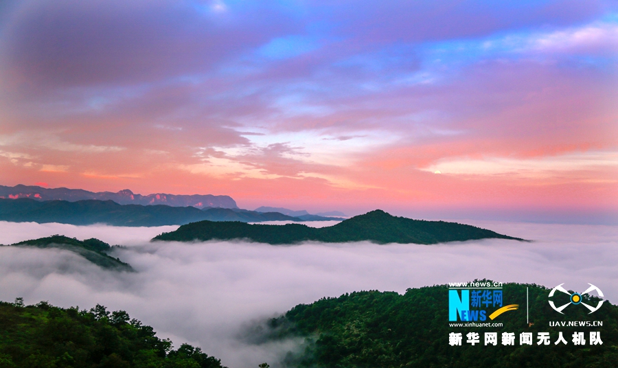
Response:
M46 238L25 240L23 242L11 244L10 246L36 246L37 248L58 248L72 251L86 258L90 262L102 268L117 271L133 271L133 268L119 260L118 258L107 255L112 247L106 242L91 238L87 240L77 240L64 235L52 235Z

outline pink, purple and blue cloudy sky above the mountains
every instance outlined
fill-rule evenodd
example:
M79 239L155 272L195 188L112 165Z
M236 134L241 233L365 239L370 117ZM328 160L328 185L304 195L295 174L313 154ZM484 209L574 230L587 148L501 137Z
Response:
M618 5L3 1L0 185L20 183L608 222Z

